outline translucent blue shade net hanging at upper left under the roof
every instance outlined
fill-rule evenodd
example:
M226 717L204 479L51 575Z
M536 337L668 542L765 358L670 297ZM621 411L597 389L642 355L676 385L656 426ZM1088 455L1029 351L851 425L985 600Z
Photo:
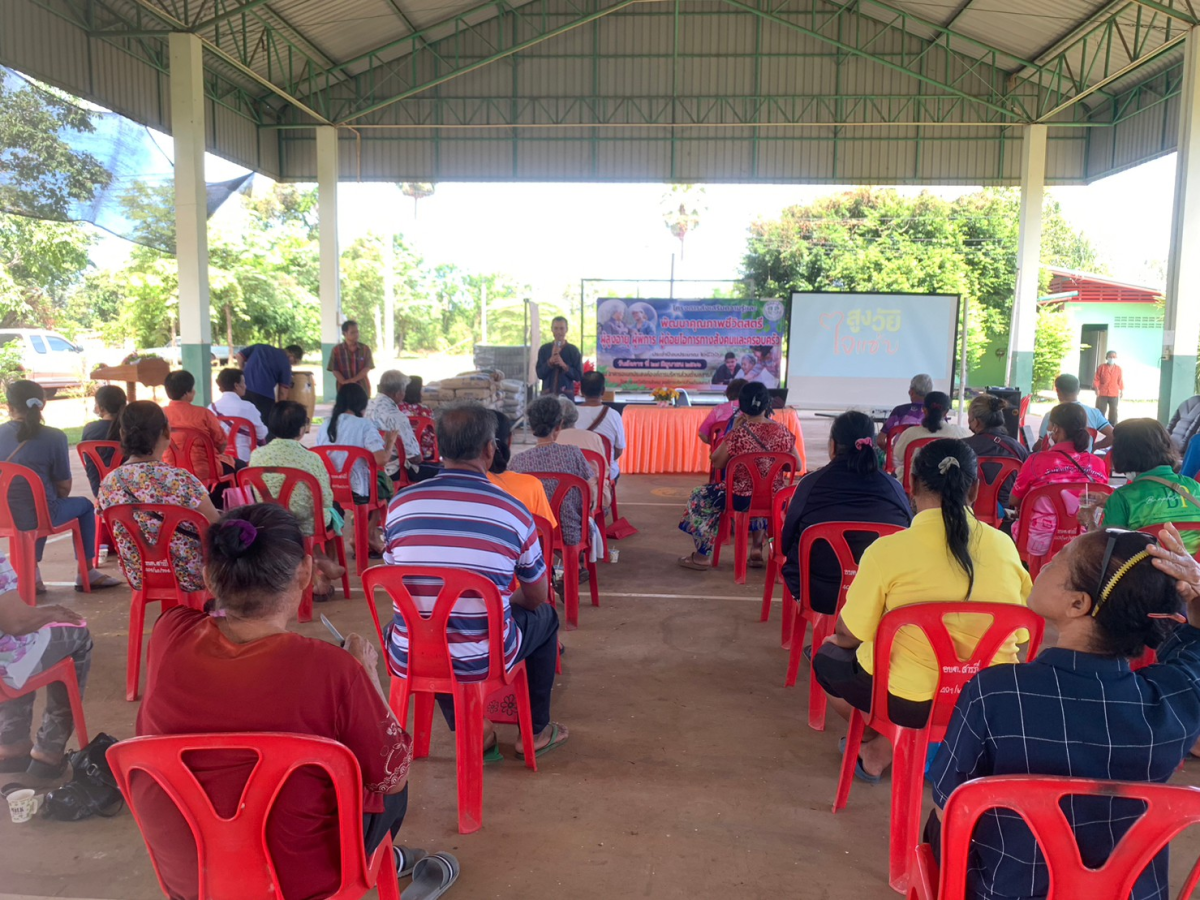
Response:
M149 128L116 113L86 108L2 66L0 104L5 107L0 115L14 116L10 120L13 127L5 130L13 137L0 145L0 211L90 222L174 256L173 229L148 227L145 217L138 215L148 206L169 210L174 205L174 163ZM41 133L44 119L40 110L46 107L54 110L55 121L62 122L52 136ZM28 118L28 128L23 127L22 115ZM55 166L55 157L65 154L72 157L71 164ZM70 172L85 174L73 179ZM247 172L205 185L209 217L253 176Z

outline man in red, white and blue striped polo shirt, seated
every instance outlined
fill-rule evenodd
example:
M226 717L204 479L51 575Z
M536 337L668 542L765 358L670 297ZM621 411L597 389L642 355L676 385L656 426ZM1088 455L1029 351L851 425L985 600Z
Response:
M540 756L566 740L566 728L550 720L558 649L558 616L546 604L546 562L538 528L524 504L487 480L496 455L496 419L476 404L448 407L438 418L438 448L445 468L436 478L400 491L388 506L384 562L463 569L491 578L504 604L504 661L526 661L533 707L534 748ZM514 593L514 580L520 588ZM408 584L422 612L432 612L439 583ZM481 600L462 598L446 632L460 680L487 677L487 614ZM407 672L408 636L397 612L388 632L392 668ZM454 698L438 704L454 728ZM484 749L497 752L491 724ZM523 748L517 743L517 752Z

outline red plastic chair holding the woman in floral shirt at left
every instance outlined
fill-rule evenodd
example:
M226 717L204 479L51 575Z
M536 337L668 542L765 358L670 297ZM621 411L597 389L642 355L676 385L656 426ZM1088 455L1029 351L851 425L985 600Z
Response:
M142 530L142 523L146 517L158 520L158 538L154 544L149 542L146 534ZM127 647L127 659L125 665L125 698L133 701L138 698L138 674L142 670L142 632L145 629L146 604L161 602L163 612L180 604L193 610L204 608L209 599L208 590L186 592L180 587L179 576L175 572L175 560L170 554L170 542L179 532L180 526L190 526L199 535L200 547L204 547L204 538L209 533L209 521L196 510L184 506L169 506L157 503L130 503L118 506L109 506L101 514L108 530L115 536L118 528L127 535L138 548L142 558L142 566L138 571L140 589L133 589L130 600L130 637ZM191 540L185 538L185 540ZM130 577L130 564L125 557L118 553L121 562L121 571L133 588L133 580Z

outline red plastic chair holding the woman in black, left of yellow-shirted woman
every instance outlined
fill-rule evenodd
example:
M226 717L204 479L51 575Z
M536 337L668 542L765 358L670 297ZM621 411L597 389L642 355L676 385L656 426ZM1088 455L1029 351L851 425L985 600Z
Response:
M804 637L808 635L809 625L812 626L812 653L820 649L826 638L833 634L838 624L838 613L846 604L846 592L858 575L858 559L850 548L846 540L847 534L874 534L875 540L896 532L902 532L900 526L883 524L882 522L822 522L809 526L800 533L800 546L798 558L805 562L800 566L800 596L790 608L785 607L785 614L791 619L787 632L791 637L791 652L787 658L787 678L784 686L794 688L796 677L800 671L800 659L804 654ZM811 565L812 548L820 541L828 544L838 557L838 566L841 569L841 588L838 592L838 610L833 616L827 616L812 608L812 578ZM817 684L809 664L809 727L814 731L824 731L826 718L826 692Z

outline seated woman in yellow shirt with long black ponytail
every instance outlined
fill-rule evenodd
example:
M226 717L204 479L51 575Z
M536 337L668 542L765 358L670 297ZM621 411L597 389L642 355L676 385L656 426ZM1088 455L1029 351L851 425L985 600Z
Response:
M851 707L871 707L872 638L884 613L908 604L967 600L1024 606L1033 587L1013 540L971 512L979 485L970 446L954 439L929 444L913 462L912 485L912 526L880 538L863 553L836 632L814 659L817 682L845 719ZM972 649L989 624L985 616L946 620L960 653ZM1016 662L1016 637L1009 638L992 665ZM888 718L906 727L924 726L936 688L937 660L929 641L914 629L900 631L892 647ZM876 738L868 730L856 769L872 784L892 763L892 745Z

